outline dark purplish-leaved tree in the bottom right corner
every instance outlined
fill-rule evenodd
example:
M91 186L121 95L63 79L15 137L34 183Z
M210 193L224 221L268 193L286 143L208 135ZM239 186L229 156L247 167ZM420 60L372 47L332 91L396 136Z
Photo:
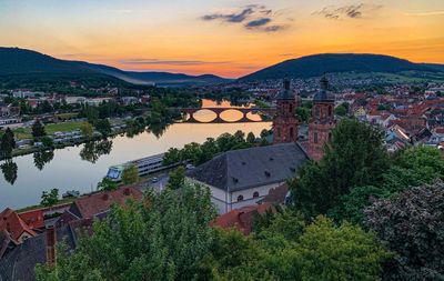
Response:
M424 184L376 200L364 210L366 225L397 255L386 264L393 280L444 279L444 183Z

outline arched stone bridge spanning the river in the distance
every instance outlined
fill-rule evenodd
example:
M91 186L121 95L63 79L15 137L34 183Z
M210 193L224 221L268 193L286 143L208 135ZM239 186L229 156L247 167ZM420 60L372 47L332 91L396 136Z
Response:
M251 120L248 118L248 113L256 113L256 112L264 112L264 113L274 113L275 109L262 109L262 108L182 108L180 109L182 112L185 112L190 116L188 120L184 120L184 123L246 123L246 122L263 122L262 120ZM215 113L215 119L212 121L199 121L194 118L194 113L201 110L209 110ZM222 112L228 110L234 110L241 112L243 116L241 119L236 121L226 121L221 118Z

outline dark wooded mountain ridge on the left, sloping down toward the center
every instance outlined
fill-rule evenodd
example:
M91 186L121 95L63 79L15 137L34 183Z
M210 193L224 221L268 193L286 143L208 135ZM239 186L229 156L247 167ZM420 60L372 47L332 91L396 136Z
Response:
M213 74L188 76L169 72L135 72L94 64L52 58L37 51L0 47L0 76L109 76L134 84L194 86L230 81Z

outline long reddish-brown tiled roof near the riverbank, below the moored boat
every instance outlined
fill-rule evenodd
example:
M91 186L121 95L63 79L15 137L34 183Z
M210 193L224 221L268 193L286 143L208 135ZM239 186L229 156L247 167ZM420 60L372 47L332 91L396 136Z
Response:
M110 210L112 204L124 205L129 198L140 200L143 198L143 193L134 187L123 188L77 199L71 208L77 208L81 218L91 218ZM78 213L74 212L74 214Z

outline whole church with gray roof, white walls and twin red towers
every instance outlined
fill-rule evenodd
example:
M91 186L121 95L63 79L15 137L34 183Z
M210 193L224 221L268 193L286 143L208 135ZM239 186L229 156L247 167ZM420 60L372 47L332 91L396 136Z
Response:
M255 204L271 189L297 177L297 167L322 158L322 148L335 126L334 96L329 81L321 80L321 89L313 98L309 121L309 140L297 141L299 122L295 114L300 98L284 79L276 97L273 118L273 145L226 151L185 173L186 180L208 187L219 214Z

